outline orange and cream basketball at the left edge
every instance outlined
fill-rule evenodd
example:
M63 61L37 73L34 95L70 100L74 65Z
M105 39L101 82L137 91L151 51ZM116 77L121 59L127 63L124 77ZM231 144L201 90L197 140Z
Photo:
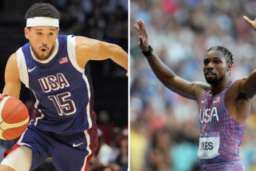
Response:
M26 105L15 97L4 97L0 101L0 138L12 140L24 133L30 116Z

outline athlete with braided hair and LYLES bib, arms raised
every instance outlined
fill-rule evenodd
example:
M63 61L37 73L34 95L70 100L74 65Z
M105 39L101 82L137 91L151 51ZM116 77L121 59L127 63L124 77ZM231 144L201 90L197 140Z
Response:
M246 18L256 30L254 22ZM174 74L148 46L145 25L139 19L134 27L139 34L139 48L158 79L182 97L198 101L201 124L198 157L201 170L246 170L239 157L239 147L250 113L250 99L256 93L256 71L247 78L230 81L233 54L222 46L206 51L203 73L206 82L187 82Z

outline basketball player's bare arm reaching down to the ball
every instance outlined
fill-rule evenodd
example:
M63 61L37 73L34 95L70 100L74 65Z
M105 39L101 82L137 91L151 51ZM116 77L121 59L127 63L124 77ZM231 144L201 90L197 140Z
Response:
M6 64L5 81L6 85L2 93L19 98L22 83L19 78L16 53L10 56Z

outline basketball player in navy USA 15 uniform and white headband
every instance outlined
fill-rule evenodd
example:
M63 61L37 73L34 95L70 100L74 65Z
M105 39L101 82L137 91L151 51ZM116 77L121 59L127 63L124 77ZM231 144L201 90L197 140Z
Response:
M38 117L13 149L4 153L0 170L34 170L52 157L56 170L87 170L98 147L89 60L111 58L128 69L119 46L74 35L58 35L58 10L48 3L26 12L29 43L6 65L1 97L19 97L21 82L33 93Z

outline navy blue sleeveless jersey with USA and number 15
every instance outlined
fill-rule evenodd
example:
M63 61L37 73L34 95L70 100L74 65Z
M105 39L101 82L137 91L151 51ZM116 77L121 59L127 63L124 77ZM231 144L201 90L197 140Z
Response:
M17 51L20 79L33 93L34 107L42 113L34 121L38 129L81 133L96 120L89 66L78 66L73 35L59 35L55 43L54 53L44 62L34 58L30 43Z

